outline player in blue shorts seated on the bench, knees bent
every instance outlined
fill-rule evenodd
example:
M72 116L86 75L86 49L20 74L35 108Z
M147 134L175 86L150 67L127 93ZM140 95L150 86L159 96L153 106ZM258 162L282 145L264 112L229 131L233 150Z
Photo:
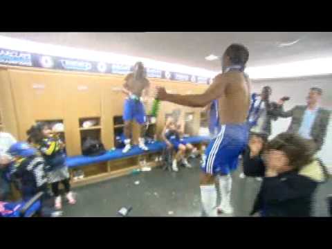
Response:
M177 124L174 118L168 118L166 125L163 129L162 137L167 144L167 149L174 148L176 150L176 156L172 162L172 169L174 172L178 172L178 161L181 160L185 167L192 167L188 163L186 158L186 152L192 152L194 147L181 139L183 131L181 124Z

